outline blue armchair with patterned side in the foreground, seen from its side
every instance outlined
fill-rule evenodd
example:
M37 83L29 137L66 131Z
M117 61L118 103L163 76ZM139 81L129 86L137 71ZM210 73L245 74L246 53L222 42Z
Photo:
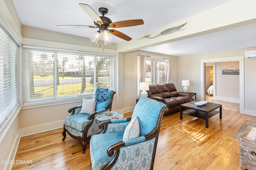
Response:
M143 97L131 118L100 123L104 127L102 133L90 140L92 170L152 170L160 125L167 109L165 104ZM136 131L137 137L129 137Z

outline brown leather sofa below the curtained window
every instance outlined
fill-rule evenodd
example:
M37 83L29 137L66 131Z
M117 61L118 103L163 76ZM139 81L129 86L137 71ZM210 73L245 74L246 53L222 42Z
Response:
M170 115L180 111L180 105L191 102L191 92L177 92L173 83L150 84L148 98L158 100L169 108L164 115Z

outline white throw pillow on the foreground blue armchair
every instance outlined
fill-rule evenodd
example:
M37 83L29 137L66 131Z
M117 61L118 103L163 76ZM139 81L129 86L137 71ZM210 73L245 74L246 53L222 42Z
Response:
M134 117L124 130L123 141L140 136L140 124L138 117Z

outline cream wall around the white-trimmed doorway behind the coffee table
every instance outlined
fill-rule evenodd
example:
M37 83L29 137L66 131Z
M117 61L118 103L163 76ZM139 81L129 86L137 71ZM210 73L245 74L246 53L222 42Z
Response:
M190 92L196 92L197 100L201 100L201 84L198 84L200 79L200 61L201 59L215 59L224 57L237 57L244 56L244 52L251 49L240 49L234 51L224 51L218 53L205 53L198 55L189 55L178 57L178 88L182 90L181 80L190 80ZM256 105L254 104L254 96L256 95L256 90L254 89L254 84L256 83L256 77L254 73L256 72L256 59L244 58L244 81L240 82L244 85L244 113L256 116ZM241 71L241 70L240 70ZM203 83L203 82L201 82ZM240 84L241 86L241 84ZM226 87L228 90L228 87Z

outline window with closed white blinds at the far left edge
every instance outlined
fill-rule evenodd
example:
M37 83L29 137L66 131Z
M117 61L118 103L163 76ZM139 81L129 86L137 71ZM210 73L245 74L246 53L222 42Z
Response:
M0 129L18 107L18 45L0 25Z

